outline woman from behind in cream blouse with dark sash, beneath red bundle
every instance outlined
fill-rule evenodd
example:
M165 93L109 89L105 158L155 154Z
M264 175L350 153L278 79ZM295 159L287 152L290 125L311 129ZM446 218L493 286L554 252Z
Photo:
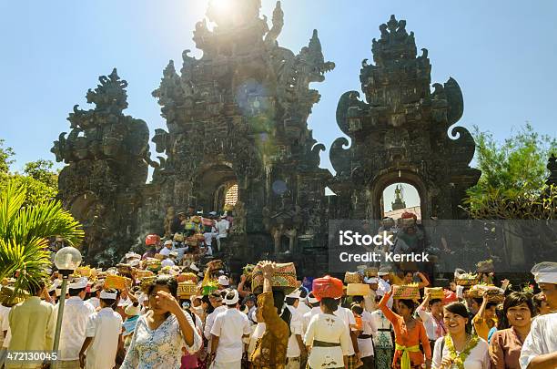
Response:
M304 341L310 351L308 364L312 369L345 368L350 349L349 331L342 319L334 314L334 299L321 299L321 311L309 321Z

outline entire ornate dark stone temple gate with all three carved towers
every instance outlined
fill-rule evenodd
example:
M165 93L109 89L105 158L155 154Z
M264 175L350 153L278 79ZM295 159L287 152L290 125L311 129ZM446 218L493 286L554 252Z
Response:
M380 26L375 65L362 64L367 102L356 91L340 98L337 121L351 146L344 149L346 138L333 143L333 177L319 168L325 147L307 123L319 101L309 84L334 68L317 31L295 54L277 42L280 2L270 28L259 0L234 3L234 17L209 3L193 37L203 56L186 50L179 73L172 60L163 71L153 96L167 129L152 138L156 160L146 123L122 114L127 82L116 69L87 93L96 108L70 114L72 131L52 151L67 164L60 196L84 221L89 261L114 262L147 233L164 234L165 217L188 205L220 210L223 191L233 185L238 204L228 243L237 264L267 254L298 262L306 275L326 268L328 220L379 219L380 195L393 182L419 190L424 217L462 216L458 204L480 172L468 166L469 132L452 128L460 138L447 135L461 118L461 90L450 79L430 92L427 50L416 56L404 21L393 17ZM154 173L146 184L148 165ZM336 196L325 195L327 186Z

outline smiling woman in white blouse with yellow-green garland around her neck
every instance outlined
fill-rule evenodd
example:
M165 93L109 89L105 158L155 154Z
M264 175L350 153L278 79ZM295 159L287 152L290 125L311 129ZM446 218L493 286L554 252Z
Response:
M489 369L488 343L472 335L466 306L452 302L444 307L443 321L448 334L435 342L434 369Z

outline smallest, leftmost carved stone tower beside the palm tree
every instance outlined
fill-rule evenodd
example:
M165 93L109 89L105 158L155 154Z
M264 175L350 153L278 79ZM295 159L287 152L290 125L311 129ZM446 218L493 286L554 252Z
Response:
M135 241L133 217L147 179L149 132L143 120L122 113L127 82L116 68L98 79L86 94L95 108L75 106L67 118L70 133L60 134L51 151L67 164L59 175L59 193L85 226L87 255L112 261L106 247L126 251Z

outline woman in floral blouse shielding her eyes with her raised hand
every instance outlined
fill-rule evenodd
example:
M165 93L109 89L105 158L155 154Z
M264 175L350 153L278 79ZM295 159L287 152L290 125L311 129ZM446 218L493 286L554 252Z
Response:
M160 275L148 291L150 310L137 319L136 331L121 369L178 369L182 347L193 354L201 346L191 316L176 299L177 281Z

